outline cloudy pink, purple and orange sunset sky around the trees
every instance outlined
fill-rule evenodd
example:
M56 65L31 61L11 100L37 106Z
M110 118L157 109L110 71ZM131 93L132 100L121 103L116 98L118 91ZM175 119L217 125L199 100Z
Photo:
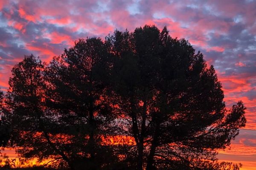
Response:
M24 55L49 62L79 38L145 24L189 40L214 65L227 107L244 102L247 125L218 157L256 170L256 0L0 0L0 87Z

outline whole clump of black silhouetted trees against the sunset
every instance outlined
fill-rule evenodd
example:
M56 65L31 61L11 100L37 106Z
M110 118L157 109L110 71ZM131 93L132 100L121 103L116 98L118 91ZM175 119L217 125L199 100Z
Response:
M25 56L1 93L0 144L72 170L239 170L219 162L245 126L213 66L155 26L80 39L49 64ZM130 136L134 144L111 144Z

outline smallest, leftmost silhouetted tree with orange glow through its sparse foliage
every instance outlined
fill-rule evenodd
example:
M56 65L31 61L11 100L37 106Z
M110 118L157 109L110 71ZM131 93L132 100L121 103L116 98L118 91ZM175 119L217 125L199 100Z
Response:
M59 155L70 164L62 148L55 144L58 138L51 134L56 122L45 107L44 67L39 58L30 55L12 69L6 94L10 110L7 117L12 128L11 146L14 144L17 153L27 159L38 157L42 160Z

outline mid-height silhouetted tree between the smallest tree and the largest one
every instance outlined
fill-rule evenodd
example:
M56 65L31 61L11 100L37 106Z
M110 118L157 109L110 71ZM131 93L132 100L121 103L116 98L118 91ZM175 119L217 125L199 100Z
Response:
M117 159L112 146L102 144L114 118L107 94L109 70L106 46L99 38L80 39L47 68L47 107L59 115L60 133L73 136L69 153L76 168L107 168Z

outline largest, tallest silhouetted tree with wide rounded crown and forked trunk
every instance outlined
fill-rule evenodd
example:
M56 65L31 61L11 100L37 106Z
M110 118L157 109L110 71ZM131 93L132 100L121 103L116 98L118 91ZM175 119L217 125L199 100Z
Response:
M225 109L221 83L203 54L166 27L115 31L107 40L115 58L113 93L121 127L128 126L123 132L136 141L137 170L221 169L214 151L244 127L245 108L238 102Z

